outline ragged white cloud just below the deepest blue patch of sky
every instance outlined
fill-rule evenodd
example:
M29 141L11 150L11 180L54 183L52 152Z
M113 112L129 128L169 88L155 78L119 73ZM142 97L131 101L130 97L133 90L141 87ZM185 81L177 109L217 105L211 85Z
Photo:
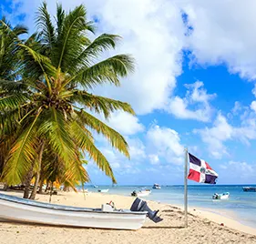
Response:
M169 99L168 112L178 118L190 118L200 121L210 121L213 108L210 99L215 94L208 94L201 81L185 85L188 88L186 97L173 97ZM189 108L194 107L194 108Z

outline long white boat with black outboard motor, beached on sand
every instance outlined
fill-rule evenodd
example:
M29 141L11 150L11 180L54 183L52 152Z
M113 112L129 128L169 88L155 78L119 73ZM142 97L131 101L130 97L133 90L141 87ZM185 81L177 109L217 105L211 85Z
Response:
M102 205L102 208L76 208L0 194L0 218L99 229L139 229L144 224L147 214L153 221L159 220L156 215L157 211L152 211L152 217L150 217L151 210L148 210L147 203L144 202L144 206L147 207L146 211L144 208L138 208L136 201L144 202L137 198L131 207L135 211L131 211L114 209L108 204Z

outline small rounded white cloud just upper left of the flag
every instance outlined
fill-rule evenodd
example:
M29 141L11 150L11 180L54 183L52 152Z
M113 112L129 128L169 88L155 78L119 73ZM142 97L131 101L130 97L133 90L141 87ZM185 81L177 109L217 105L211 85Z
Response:
M157 157L161 157L172 164L182 163L184 147L180 144L177 131L169 127L154 125L148 129L147 142L151 162L152 158L156 162Z

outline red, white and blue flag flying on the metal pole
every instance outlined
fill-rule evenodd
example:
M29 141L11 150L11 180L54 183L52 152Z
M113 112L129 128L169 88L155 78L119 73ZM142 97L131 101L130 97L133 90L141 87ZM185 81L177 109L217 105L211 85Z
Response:
M200 183L216 184L218 174L210 168L210 165L199 158L189 154L189 179Z

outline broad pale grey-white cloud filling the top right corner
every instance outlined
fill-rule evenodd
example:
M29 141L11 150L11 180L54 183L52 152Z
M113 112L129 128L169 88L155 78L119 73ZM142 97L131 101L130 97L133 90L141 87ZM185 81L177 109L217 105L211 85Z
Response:
M226 63L230 72L256 77L256 2L179 1L189 15L188 48L201 65Z

